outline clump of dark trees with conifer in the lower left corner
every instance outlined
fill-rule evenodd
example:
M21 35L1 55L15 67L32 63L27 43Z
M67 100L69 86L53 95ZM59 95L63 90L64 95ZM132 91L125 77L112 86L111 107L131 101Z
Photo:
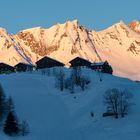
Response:
M26 120L19 122L16 115L12 97L6 98L0 84L0 124L3 132L9 136L25 136L29 133L29 125Z

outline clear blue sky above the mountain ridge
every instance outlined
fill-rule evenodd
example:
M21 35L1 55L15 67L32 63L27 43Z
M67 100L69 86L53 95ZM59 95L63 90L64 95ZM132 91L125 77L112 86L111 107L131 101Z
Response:
M123 20L140 20L140 0L0 0L0 26L10 33L67 19L102 30Z

